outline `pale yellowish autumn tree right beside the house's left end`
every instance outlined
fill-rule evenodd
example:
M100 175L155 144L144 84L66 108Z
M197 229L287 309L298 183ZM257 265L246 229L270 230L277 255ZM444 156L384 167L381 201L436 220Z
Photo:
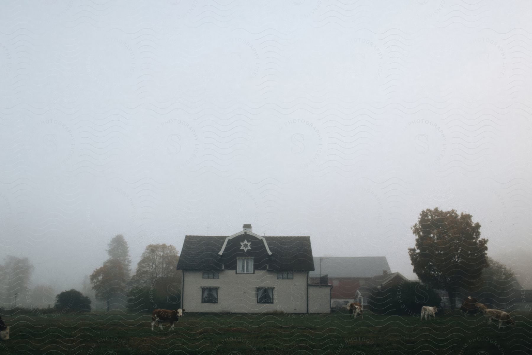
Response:
M129 308L179 308L181 273L176 270L179 253L167 244L149 244L137 263L129 292Z

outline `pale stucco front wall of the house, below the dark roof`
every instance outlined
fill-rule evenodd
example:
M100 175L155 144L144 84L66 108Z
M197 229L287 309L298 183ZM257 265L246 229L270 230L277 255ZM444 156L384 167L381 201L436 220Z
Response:
M278 280L275 271L255 274L220 271L218 279L204 279L202 271L184 272L183 306L187 312L306 313L306 272L294 272L292 280ZM218 303L201 302L201 286L218 286ZM273 303L257 303L256 287L273 286ZM329 297L326 302L330 303Z

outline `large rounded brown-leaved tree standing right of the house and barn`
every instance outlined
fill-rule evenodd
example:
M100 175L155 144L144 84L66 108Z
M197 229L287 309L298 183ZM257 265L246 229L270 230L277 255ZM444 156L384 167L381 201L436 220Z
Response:
M426 284L445 290L455 307L459 290L477 285L487 267L488 240L471 215L426 209L412 226L415 247L409 248L414 273Z

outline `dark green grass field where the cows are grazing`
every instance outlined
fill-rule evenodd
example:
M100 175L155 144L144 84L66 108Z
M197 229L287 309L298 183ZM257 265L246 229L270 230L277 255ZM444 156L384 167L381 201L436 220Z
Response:
M192 315L151 331L147 313L3 317L11 339L0 354L531 354L532 314L497 329L481 316L418 318L330 315ZM485 351L486 353L483 353Z

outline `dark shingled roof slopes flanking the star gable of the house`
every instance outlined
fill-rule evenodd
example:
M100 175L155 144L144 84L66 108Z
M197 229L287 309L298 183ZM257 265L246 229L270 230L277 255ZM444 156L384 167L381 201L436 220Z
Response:
M244 231L242 232L244 233ZM187 235L177 264L178 270L222 270L222 255L218 255L228 236ZM314 270L309 236L265 236L272 255L268 268L272 270ZM227 249L223 254L226 257ZM227 262L227 261L226 261ZM226 265L227 269L227 265ZM262 267L257 268L262 269Z

